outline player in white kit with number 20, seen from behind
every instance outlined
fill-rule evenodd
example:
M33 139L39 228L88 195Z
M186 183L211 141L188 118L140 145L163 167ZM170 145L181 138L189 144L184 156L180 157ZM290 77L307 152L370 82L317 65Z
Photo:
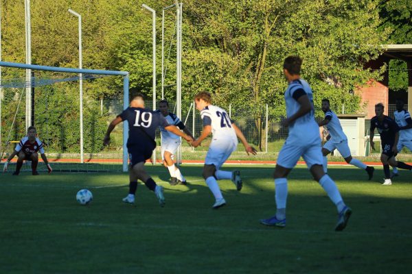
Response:
M217 209L225 206L226 201L216 180L231 179L238 191L242 189L242 179L239 171L220 170L222 164L236 150L238 138L242 141L248 155L249 153L256 154L256 149L249 145L240 129L231 121L227 112L211 104L209 92L199 92L194 97L194 102L196 103L196 109L201 112L203 131L201 136L192 142L192 146L198 147L210 133L212 134L202 175L216 199L213 208Z

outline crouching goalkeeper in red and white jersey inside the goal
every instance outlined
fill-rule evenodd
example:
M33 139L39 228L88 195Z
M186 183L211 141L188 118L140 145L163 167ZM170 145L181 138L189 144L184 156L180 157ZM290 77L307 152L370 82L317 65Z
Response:
M23 161L32 161L32 175L38 175L37 164L38 164L38 152L40 152L41 159L47 166L49 173L53 171L52 166L50 166L49 161L45 155L45 149L43 148L43 142L37 138L36 127L30 126L27 128L27 136L20 140L19 144L16 145L13 153L7 158L7 162L4 163L3 171L7 171L8 164L14 158L15 155L19 157L17 159L16 171L13 175L19 175L21 166L23 166Z

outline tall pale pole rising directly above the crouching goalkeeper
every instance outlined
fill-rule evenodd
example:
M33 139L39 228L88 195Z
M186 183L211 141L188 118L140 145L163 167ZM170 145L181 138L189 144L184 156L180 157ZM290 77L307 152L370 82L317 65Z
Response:
M26 64L32 64L32 27L30 23L30 0L24 1L25 8L25 46ZM26 108L25 108L25 129L32 125L32 71L26 69Z

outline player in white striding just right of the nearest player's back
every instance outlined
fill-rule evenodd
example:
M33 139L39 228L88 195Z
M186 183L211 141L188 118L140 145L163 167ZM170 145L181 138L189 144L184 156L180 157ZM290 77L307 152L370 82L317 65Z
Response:
M325 173L328 172L328 158L326 158L326 156L334 149L337 149L348 164L352 164L359 169L365 169L369 176L369 180L372 179L372 177L374 177L374 167L367 166L358 159L352 158L349 145L347 145L347 137L343 132L341 122L339 122L338 116L330 110L329 99L322 100L322 110L325 112L325 118L319 122L319 127L326 125L331 136L330 140L328 140L322 147L323 171L325 171Z

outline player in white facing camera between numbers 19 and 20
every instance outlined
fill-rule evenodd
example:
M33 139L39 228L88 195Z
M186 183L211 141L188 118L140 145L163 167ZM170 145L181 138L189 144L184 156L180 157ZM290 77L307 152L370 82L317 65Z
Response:
M182 123L176 114L169 112L169 103L166 100L159 101L159 112L163 114L169 125L176 125L179 129L183 130L187 136L194 139L192 132ZM172 132L168 132L164 127L159 127L161 132L161 159L163 160L163 166L168 169L170 173L170 185L176 186L176 184L187 184L185 177L182 175L180 169L174 165L173 159L176 154L177 148L181 144L181 138Z

